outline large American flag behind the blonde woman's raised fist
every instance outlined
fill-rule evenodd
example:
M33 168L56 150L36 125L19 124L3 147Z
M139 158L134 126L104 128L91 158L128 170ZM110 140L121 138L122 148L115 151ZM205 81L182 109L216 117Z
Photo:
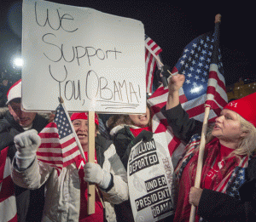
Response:
M207 33L196 37L184 48L182 57L172 69L172 74L178 72L186 78L183 88L179 92L179 100L183 109L188 112L190 118L193 117L201 122L204 118L206 101L207 104L212 105L209 122L214 121L220 110L227 104L224 76L222 75L223 64L219 48L215 46L215 44L218 45L217 37L216 31L213 35ZM212 58L213 53L217 55L217 59ZM153 132L166 132L171 155L178 146L181 146L173 154L173 161L182 156L184 145L172 134L172 128L168 127L166 117L160 112L160 109L166 105L167 96L168 88L161 85L148 99L148 103L153 110Z

